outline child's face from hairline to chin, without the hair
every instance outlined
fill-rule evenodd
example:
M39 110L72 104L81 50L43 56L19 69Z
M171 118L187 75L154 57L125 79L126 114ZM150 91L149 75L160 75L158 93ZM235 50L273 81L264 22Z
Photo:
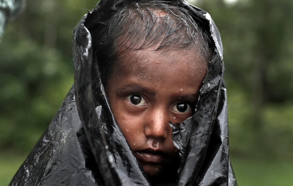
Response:
M106 90L118 125L150 176L174 165L177 148L169 121L183 122L194 114L207 72L196 46L154 49L121 55Z

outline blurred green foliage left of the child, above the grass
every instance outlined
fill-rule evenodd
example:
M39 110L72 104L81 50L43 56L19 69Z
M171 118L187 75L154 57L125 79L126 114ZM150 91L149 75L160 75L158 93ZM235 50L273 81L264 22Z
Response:
M0 148L29 152L73 84L72 31L96 2L30 0L0 44Z

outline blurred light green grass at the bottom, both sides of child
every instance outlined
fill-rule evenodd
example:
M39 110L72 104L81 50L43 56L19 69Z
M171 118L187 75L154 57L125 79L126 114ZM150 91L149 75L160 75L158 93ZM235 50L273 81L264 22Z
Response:
M0 186L7 186L26 155L0 154ZM231 158L239 186L292 186L293 161Z

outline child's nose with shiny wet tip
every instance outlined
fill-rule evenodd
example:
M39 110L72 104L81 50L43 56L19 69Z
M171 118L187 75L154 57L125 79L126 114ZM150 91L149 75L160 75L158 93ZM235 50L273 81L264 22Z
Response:
M146 137L164 140L172 133L172 128L169 126L168 113L165 108L152 110L148 114L147 123L144 128Z

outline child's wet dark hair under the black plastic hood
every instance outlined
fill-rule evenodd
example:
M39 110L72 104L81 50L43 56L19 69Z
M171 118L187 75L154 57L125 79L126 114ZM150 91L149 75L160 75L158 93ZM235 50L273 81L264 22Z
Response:
M154 50L198 46L208 66L212 58L209 30L184 6L169 1L118 1L108 12L108 19L97 21L99 25L90 28L94 55L105 86L118 57L127 51L153 46L156 46Z

